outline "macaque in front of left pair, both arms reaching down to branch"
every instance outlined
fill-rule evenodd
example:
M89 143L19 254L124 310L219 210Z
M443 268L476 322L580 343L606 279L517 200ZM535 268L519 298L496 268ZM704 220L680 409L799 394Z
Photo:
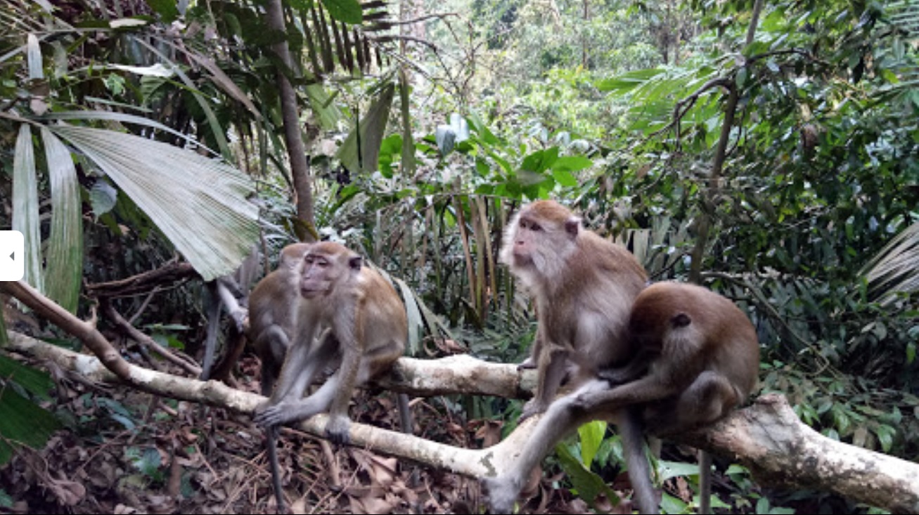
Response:
M255 422L274 427L328 411L328 439L348 442L348 402L357 386L389 370L408 340L405 308L380 273L344 245L313 243L302 260L297 330L278 385ZM317 338L318 337L318 338ZM326 367L331 375L302 398Z

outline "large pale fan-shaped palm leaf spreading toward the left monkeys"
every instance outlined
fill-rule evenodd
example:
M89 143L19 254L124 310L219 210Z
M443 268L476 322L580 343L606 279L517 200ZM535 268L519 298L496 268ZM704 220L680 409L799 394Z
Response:
M149 216L204 277L233 272L258 238L249 178L232 166L160 141L56 125Z

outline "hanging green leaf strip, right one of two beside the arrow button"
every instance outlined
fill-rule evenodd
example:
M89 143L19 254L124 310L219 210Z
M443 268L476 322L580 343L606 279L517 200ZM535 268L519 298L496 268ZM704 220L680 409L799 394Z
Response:
M83 203L74 160L67 147L42 127L51 182L51 235L45 264L48 297L76 313L83 279Z

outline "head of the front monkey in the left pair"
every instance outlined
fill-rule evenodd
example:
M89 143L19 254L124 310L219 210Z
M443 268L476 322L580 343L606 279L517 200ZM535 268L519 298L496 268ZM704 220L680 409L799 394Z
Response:
M327 296L335 286L357 280L364 260L359 254L334 241L321 241L303 256L300 293L304 298Z

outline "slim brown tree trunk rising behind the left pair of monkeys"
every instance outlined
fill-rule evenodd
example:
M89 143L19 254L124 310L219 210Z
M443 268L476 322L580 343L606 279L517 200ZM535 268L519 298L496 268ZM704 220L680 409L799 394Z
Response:
M268 0L267 23L268 28L271 30L287 33L281 0ZM280 62L283 63L283 67L287 68L289 73L293 73L293 60L290 58L287 39L275 43L273 50L278 55ZM315 241L318 239L318 233L316 232L315 218L313 218L312 176L310 175L310 163L306 158L306 147L303 145L300 130L300 107L297 106L297 93L293 89L293 84L290 84L283 68L278 67L276 81L278 82L278 96L281 102L281 116L284 122L284 142L287 144L288 149L290 178L293 181L297 218L299 220L299 223L294 224L294 231L301 241Z

